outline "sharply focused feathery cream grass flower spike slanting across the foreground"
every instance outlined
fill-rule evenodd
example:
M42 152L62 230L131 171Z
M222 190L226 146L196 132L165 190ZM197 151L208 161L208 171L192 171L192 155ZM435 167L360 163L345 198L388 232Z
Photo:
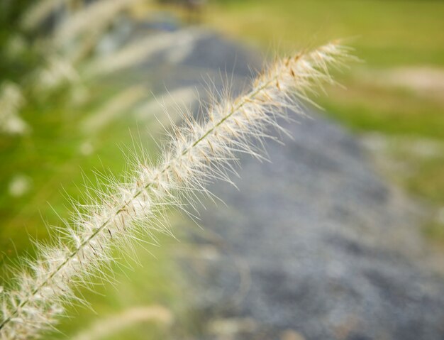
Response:
M230 181L235 153L260 157L270 126L282 129L278 118L285 118L287 109L302 114L306 94L332 82L328 67L341 65L346 56L346 48L329 43L274 62L250 92L214 104L204 122L185 117L157 166L140 160L131 181L102 193L87 212L76 209L64 241L39 246L37 259L23 263L15 287L1 295L0 339L33 339L52 329L63 306L78 299L73 288L113 261L111 249L123 250L141 234L169 232L158 215L165 205L194 207L201 192L209 194L208 182Z

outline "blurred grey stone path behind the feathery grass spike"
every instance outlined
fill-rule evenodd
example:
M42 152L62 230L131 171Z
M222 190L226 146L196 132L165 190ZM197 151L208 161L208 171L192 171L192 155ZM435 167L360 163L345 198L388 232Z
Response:
M206 81L233 75L236 91L260 68L254 52L198 34L180 57L162 47L125 77L149 79L158 97L184 87L205 97ZM239 190L211 187L226 206L201 209L203 231L178 226L193 244L178 261L196 338L444 339L444 278L425 265L418 209L353 136L310 116L287 125L284 146L267 143L271 163L241 157Z

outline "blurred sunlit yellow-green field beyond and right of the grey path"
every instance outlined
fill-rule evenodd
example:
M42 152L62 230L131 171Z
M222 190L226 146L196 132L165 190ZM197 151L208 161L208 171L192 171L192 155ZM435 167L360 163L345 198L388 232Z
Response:
M213 28L265 53L291 53L335 38L352 46L361 61L336 75L345 89L328 88L318 102L356 133L437 143L440 152L428 158L392 148L390 157L406 171L385 175L444 207L444 2L221 0L207 14ZM434 83L421 87L431 75ZM425 230L444 240L442 223Z

